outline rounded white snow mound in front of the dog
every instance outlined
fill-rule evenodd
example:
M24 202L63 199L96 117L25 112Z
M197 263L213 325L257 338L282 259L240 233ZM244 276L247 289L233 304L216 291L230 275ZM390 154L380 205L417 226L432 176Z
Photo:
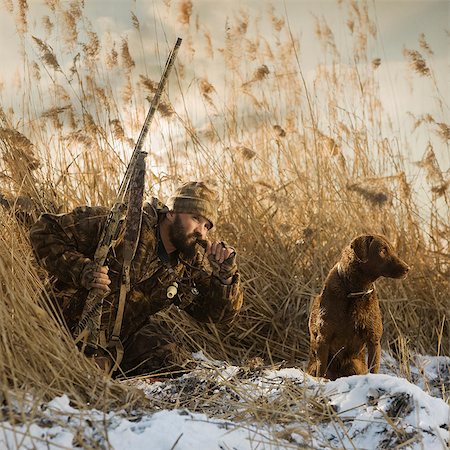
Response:
M324 384L341 423L327 425L330 443L343 447L443 449L449 442L449 406L408 381L390 375L355 375ZM408 439L407 439L408 438ZM413 444L417 447L414 447Z

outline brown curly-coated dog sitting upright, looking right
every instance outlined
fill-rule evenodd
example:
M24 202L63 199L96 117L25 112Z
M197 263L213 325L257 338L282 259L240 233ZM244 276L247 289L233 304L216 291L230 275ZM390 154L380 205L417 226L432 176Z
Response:
M335 380L369 369L378 373L383 324L373 282L379 277L404 278L408 270L385 237L353 239L311 308L310 375Z

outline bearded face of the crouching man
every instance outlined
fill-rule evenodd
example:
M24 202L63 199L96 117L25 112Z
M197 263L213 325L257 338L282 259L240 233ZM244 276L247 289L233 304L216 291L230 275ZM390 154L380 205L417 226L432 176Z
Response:
M172 244L188 258L195 256L195 243L206 239L211 223L203 216L188 213L175 213L169 227Z

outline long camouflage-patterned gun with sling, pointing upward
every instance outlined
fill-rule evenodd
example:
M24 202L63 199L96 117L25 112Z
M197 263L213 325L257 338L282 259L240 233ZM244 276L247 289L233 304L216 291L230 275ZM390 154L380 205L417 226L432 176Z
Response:
M121 230L126 211L126 228L124 234L124 262L122 269L122 283L117 316L113 338L118 340L120 326L122 323L123 307L126 293L130 290L130 266L133 259L142 221L142 200L145 179L145 157L147 152L142 151L144 139L148 134L151 121L164 91L168 76L175 62L181 39L178 38L173 50L167 58L166 65L159 81L155 95L150 104L150 109L144 121L138 140L133 150L130 162L126 169L124 178L119 187L117 199L108 214L102 229L102 234L94 254L94 262L98 267L104 266L111 249L114 247ZM126 195L128 194L128 201ZM127 205L128 204L128 205ZM91 289L83 307L81 319L75 329L75 343L82 342L83 350L90 356L97 352L99 347L99 335L103 311L103 300L107 293L100 289Z

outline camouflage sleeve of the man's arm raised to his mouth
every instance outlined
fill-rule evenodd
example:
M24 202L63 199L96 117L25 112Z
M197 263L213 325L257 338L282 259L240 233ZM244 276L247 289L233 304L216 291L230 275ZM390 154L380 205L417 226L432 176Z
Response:
M193 279L199 295L185 309L195 319L202 322L229 322L242 307L243 292L238 272L231 284L226 285L211 275L205 263L198 263Z

